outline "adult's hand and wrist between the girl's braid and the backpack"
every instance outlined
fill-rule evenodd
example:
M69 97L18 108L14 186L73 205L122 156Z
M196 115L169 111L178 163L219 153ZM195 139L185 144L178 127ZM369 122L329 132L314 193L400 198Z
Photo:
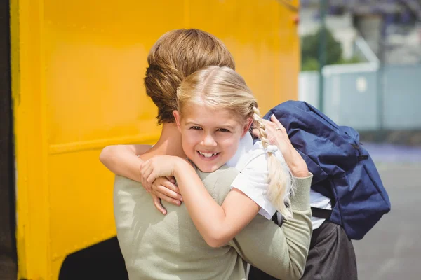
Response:
M285 127L279 120L276 119L274 115L270 117L270 120L263 120L266 127L266 134L269 143L276 145L281 151L283 158L285 158L286 164L291 170L291 173L295 177L307 177L309 176L309 170L305 160L302 159L302 156L295 150L293 144L286 133ZM256 134L258 130L253 130L253 134ZM257 135L258 136L258 135Z

